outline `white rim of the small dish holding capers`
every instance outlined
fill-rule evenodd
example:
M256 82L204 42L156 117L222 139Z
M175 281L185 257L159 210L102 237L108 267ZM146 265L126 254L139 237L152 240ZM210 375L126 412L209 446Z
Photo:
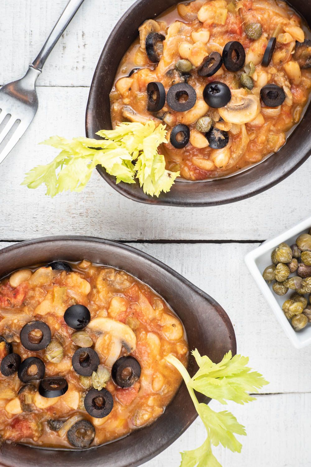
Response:
M263 279L262 273L256 264L256 260L260 258L263 254L267 253L268 251L272 251L274 248L277 247L282 242L286 242L291 238L297 235L304 230L307 230L311 226L311 217L307 217L306 219L300 221L298 224L290 227L289 229L283 231L282 233L278 234L276 237L264 241L259 247L255 248L254 250L250 251L247 255L245 255L244 261L251 273L254 277L255 282L259 289L262 291L263 296L267 300L268 304L272 308L277 321L283 328L284 333L289 338L290 342L294 347L297 349L306 347L311 344L311 336L306 337L305 339L298 339L297 332L294 328L290 325L289 320L283 313L281 306L276 301L276 297L273 292L270 290L268 284ZM300 336L303 334L300 333Z

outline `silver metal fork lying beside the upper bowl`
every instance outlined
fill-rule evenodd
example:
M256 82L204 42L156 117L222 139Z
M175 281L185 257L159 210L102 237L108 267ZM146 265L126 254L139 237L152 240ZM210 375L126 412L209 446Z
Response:
M50 51L55 46L83 0L69 0L38 57L29 65L26 75L0 89L0 163L25 133L38 109L35 82Z

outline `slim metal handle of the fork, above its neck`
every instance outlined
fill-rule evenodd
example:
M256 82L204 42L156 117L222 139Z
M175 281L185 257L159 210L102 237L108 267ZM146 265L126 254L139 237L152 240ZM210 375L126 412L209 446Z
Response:
M55 24L51 34L48 36L48 39L40 50L38 57L36 57L31 64L33 68L40 72L42 71L42 67L45 64L50 51L53 49L64 30L69 25L69 22L72 20L83 1L84 0L69 0L67 7L62 12L61 17Z

